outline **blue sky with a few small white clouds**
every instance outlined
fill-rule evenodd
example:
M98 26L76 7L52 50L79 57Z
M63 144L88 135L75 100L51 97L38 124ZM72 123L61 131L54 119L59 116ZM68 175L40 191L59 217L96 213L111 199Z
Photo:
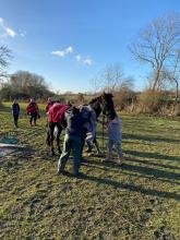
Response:
M179 0L0 0L0 45L13 51L9 72L35 72L50 88L92 91L108 64L144 87L146 68L128 46L153 19L180 12Z

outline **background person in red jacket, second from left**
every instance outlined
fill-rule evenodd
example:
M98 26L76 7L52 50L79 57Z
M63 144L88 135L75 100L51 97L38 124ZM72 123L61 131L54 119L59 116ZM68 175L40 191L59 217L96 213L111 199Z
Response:
M39 117L39 109L35 99L31 98L29 104L26 107L26 112L29 115L29 124L36 125L37 118Z

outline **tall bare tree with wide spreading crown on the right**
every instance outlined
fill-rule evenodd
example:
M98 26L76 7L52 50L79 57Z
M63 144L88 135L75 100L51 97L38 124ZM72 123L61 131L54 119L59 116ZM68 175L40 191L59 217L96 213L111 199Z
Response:
M168 68L179 46L180 16L176 14L155 19L140 33L137 40L131 44L130 50L136 59L153 69L153 91L158 89L160 73Z

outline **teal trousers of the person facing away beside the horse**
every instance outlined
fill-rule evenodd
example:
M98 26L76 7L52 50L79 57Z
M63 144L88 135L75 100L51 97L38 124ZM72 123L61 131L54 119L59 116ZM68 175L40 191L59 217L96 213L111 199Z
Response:
M82 140L80 136L65 134L63 151L59 158L58 171L63 171L69 159L70 153L73 154L73 175L79 175L81 163Z

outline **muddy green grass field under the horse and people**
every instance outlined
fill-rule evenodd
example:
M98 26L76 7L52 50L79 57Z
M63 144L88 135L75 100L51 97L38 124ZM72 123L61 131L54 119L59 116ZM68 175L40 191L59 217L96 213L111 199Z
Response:
M57 176L44 112L36 128L23 112L14 130L0 109L0 135L25 146L0 158L0 239L180 239L180 119L121 113L124 165L86 157L76 179Z

